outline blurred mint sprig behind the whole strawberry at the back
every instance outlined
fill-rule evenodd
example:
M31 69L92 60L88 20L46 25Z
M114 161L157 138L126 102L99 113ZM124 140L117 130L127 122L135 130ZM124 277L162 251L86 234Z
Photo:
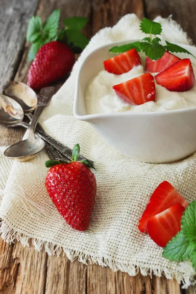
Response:
M28 59L33 60L37 51L50 41L67 44L73 53L81 53L89 40L80 30L86 25L86 17L70 17L64 20L65 27L58 30L60 9L55 9L47 21L42 25L39 16L33 16L28 23L26 41L32 42L28 52Z

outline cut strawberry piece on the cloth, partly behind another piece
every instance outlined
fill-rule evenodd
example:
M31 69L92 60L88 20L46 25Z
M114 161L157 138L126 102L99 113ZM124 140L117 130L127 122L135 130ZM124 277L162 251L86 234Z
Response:
M177 203L185 208L189 204L169 182L162 182L150 196L147 208L139 221L139 230L146 232L147 221L150 218Z

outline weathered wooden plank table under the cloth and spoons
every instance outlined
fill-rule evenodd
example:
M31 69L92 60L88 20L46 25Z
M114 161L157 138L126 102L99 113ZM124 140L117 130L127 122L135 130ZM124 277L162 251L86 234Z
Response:
M26 81L30 63L25 32L29 18L40 15L45 21L58 7L61 20L69 16L88 17L84 33L89 38L100 28L116 24L127 13L149 19L172 14L196 44L196 0L0 0L0 91L9 80ZM20 141L23 133L20 128L0 127L0 145ZM0 239L0 293L196 294L196 288L182 290L175 280L165 277L130 277L108 267L87 267L78 261L71 263L66 256L37 252L32 245L9 245Z

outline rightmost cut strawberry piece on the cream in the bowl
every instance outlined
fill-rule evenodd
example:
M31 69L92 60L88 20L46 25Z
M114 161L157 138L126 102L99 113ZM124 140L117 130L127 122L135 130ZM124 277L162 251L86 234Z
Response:
M165 87L169 91L183 92L190 90L195 82L195 76L191 60L182 59L165 71L155 75L157 84Z

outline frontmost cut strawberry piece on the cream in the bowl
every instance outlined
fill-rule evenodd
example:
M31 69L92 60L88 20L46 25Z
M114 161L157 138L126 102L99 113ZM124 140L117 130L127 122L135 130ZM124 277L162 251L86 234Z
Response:
M129 104L144 104L155 100L154 77L145 73L126 82L113 86L116 94Z

